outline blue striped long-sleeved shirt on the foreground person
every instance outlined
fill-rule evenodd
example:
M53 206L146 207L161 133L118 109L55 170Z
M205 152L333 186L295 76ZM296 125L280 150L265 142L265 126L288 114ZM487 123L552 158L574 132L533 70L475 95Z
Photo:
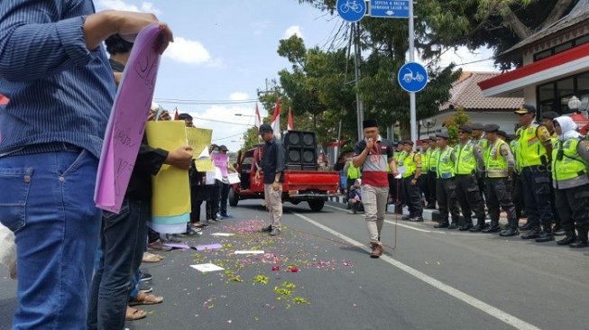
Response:
M106 51L87 50L91 0L0 2L0 156L67 142L100 157L115 97Z

